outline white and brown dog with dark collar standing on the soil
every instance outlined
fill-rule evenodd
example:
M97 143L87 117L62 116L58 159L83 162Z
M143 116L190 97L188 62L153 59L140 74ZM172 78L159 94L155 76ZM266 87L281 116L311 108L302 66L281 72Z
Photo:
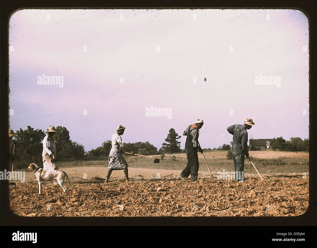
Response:
M42 181L46 181L46 182L53 181L54 184L58 183L63 188L63 191L65 192L67 190L67 188L64 185L64 180L66 177L68 179L70 186L72 186L72 184L69 181L68 175L66 174L65 171L62 171L62 170L45 170L44 171L35 163L32 163L29 165L29 171L33 171L36 175L36 179L39 183L39 194L42 193Z

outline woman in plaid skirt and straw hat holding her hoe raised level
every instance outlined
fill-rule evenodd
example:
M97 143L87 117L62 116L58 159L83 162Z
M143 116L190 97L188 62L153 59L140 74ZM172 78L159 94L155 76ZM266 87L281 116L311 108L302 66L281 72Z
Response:
M119 125L117 128L117 132L115 134L113 134L111 137L111 146L112 147L111 147L109 157L108 157L109 165L108 165L108 173L107 173L105 183L108 183L111 172L113 170L123 170L124 175L126 177L126 183L129 182L128 164L126 163L126 160L123 158L123 156L120 152L121 152L121 148L123 150L126 150L126 151L132 153L132 155L134 155L134 152L127 149L122 143L121 135L124 133L125 129L126 128L124 126Z

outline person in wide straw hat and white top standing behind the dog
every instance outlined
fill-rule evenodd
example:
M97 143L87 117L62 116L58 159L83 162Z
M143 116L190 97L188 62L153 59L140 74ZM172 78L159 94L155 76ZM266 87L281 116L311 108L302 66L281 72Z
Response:
M58 170L58 167L55 165L55 156L56 156L56 145L54 141L54 136L58 131L55 130L54 126L49 126L49 129L46 133L46 136L43 139L43 170Z

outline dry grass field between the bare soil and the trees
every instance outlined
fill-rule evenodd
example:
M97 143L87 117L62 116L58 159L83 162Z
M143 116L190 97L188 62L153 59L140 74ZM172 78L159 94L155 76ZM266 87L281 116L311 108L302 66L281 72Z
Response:
M205 157L213 173L217 171L232 171L233 162L226 158L227 151L205 152ZM132 155L123 155L126 158L129 167L150 168L164 170L183 170L187 164L186 153L166 154L162 160L160 155L152 157L160 158L159 164L153 164L150 158L142 158ZM289 172L308 172L307 152L284 152L284 151L250 151L253 163L260 173L289 173ZM81 167L81 166L108 166L108 159L104 160L87 160L73 162L57 162L60 168ZM208 171L203 155L198 152L199 171ZM254 173L254 168L247 158L245 158L245 172Z

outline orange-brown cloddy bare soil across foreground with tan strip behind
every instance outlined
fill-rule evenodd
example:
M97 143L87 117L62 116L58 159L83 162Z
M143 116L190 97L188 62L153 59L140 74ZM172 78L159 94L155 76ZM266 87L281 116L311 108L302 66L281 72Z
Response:
M44 182L42 195L34 173L27 172L24 183L10 185L11 211L20 216L297 216L309 200L308 174L302 173L263 174L264 181L246 173L244 182L236 182L199 171L199 182L191 183L174 178L180 171L129 168L130 183L123 171L113 171L104 184L106 168L65 171L72 187L67 182L64 193Z

